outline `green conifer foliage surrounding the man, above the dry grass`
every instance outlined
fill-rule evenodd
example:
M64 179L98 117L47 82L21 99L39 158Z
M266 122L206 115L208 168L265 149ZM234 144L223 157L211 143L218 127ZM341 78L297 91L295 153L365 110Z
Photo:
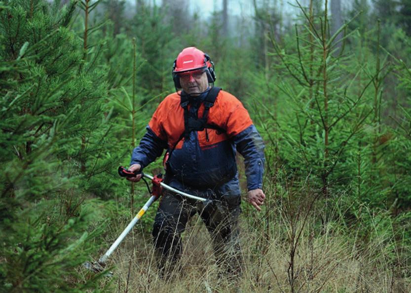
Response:
M1 292L106 290L81 264L147 200L145 186L130 192L116 167L128 165L155 107L175 90L172 63L189 45L211 55L217 84L247 106L266 142L269 193L256 229L309 178L323 212L317 232L336 214L360 246L370 229L391 230L387 254L409 265L409 1L371 9L355 0L341 39L320 1L300 6L293 25L256 3L254 32L237 35L225 35L219 11L204 21L142 1L126 17L125 1L64 2L0 1ZM156 162L146 171L161 170ZM307 200L297 192L293 205ZM155 209L140 223L147 234Z

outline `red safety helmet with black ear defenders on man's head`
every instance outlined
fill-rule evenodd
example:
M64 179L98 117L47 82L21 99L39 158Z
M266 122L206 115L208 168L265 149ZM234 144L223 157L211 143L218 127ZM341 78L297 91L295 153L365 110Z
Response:
M196 47L187 47L177 56L173 65L173 81L177 88L181 88L179 73L184 73L194 70L205 70L207 73L208 82L216 81L216 73L214 72L214 63L203 51Z

